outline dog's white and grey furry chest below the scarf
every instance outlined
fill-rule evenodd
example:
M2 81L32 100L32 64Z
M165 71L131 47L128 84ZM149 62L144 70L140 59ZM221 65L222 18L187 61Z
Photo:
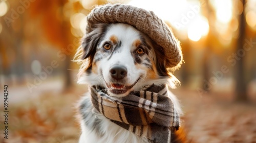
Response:
M100 114L92 105L90 95L84 97L80 103L82 133L79 143L85 142L149 142L114 123Z

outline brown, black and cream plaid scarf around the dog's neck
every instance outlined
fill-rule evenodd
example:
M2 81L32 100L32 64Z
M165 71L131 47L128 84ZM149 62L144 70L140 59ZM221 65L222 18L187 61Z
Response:
M113 123L152 142L171 142L180 118L165 85L148 85L123 98L114 98L100 86L90 87L94 107Z

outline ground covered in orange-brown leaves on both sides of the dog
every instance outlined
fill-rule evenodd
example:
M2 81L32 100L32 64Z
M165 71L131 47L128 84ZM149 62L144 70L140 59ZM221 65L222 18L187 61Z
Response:
M75 105L85 91L84 87L49 91L10 105L9 139L1 133L0 142L77 142L80 129ZM181 119L189 141L256 142L254 103L234 103L214 93L199 96L186 89L174 92L185 111Z

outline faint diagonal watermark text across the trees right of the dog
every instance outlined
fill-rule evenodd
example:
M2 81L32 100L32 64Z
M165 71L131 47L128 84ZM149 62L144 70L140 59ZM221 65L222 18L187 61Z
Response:
M252 47L256 44L256 41L252 41L252 38L245 39L245 43L243 45L243 49L239 49L236 53L232 53L227 57L227 62L234 66L237 64L237 61L241 60L242 57L246 55L246 52L249 52ZM212 71L212 75L209 80L203 81L203 88L197 88L198 94L202 96L203 94L207 93L209 90L212 89L214 85L218 83L221 79L223 79L224 74L227 74L230 71L227 65L222 65L220 70Z

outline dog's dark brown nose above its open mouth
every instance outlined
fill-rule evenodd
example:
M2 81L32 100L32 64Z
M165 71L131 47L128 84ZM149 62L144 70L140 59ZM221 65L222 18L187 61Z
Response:
M127 68L122 65L114 65L110 69L110 75L113 79L121 80L127 75Z

